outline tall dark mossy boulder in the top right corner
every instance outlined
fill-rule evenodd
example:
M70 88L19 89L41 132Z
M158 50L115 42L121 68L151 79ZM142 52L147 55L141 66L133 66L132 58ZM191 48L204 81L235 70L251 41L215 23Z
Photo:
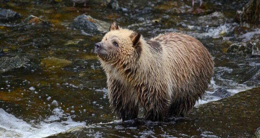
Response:
M250 0L245 7L243 7L242 12L236 12L236 18L239 17L239 22L247 27L250 26L260 26L260 1Z

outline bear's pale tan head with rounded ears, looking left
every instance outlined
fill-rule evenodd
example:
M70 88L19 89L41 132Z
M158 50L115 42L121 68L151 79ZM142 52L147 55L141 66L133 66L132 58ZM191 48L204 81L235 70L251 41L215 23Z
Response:
M133 61L142 51L140 39L140 33L120 28L114 21L102 41L95 44L95 52L101 62Z

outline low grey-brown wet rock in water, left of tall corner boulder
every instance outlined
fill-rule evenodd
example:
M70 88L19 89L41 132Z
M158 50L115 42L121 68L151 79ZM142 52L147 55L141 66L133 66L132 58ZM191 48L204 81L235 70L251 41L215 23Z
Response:
M213 12L209 15L198 17L198 21L204 26L219 26L220 24L224 24L227 21L230 21L230 19L225 17L222 12Z

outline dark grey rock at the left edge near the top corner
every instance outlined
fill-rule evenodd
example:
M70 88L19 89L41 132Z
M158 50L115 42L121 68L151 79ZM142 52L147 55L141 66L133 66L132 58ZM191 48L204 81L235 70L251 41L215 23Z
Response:
M11 20L21 17L17 12L14 12L10 9L0 8L0 20Z

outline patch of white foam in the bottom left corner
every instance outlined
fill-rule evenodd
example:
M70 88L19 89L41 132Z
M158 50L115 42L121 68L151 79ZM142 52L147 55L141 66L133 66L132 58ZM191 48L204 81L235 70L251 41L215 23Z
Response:
M67 121L48 123L64 116L64 111L62 111L59 108L55 108L53 111L55 115L50 116L44 122L41 122L40 125L32 126L0 108L0 137L40 138L64 132L71 127L86 125L85 122L73 121L70 116L67 117Z

